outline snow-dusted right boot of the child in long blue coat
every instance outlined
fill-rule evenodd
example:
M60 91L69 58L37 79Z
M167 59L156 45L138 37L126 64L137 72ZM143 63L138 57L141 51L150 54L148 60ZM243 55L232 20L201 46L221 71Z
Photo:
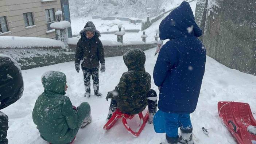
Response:
M193 131L193 128L181 129L181 136L179 137L179 143L194 144L192 131Z

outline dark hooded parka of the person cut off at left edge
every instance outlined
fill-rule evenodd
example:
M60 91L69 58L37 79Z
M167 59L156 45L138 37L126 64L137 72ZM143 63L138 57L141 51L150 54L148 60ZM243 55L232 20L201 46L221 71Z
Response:
M22 97L24 89L22 73L18 63L0 54L0 109L3 109ZM0 112L0 144L8 144L8 117Z

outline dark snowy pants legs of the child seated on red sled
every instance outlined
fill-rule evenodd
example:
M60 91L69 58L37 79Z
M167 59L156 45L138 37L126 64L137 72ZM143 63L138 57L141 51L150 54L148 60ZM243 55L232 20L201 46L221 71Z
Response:
M148 112L155 114L156 113L156 108L157 108L157 94L155 90L150 89L147 92L147 97L148 97ZM112 112L115 112L117 109L117 101L114 100L113 98L111 99L109 110Z

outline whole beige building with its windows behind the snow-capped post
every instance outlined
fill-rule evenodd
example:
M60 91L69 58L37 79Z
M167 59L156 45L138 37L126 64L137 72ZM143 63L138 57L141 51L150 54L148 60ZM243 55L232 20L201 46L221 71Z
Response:
M55 11L70 22L69 0L0 0L0 36L55 38ZM71 37L71 27L68 28Z

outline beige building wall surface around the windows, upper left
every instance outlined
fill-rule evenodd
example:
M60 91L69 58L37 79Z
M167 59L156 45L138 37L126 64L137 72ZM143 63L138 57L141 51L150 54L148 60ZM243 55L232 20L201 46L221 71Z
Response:
M0 36L30 36L42 38L55 38L55 32L46 33L47 22L45 9L55 8L61 10L61 1L52 0L0 0L0 16L6 16L10 32ZM35 26L26 28L23 13L32 12Z

